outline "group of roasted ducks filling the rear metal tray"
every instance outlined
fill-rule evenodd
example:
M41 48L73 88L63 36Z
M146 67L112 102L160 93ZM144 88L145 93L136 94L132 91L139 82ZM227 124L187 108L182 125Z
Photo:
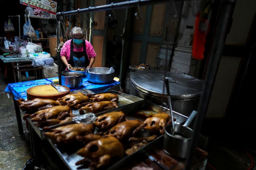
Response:
M113 93L102 94L68 94L57 101L51 99L16 100L19 108L26 114L24 119L31 117L35 126L45 127L69 122L74 115L72 109L79 109L80 114L98 113L118 107L118 95Z

